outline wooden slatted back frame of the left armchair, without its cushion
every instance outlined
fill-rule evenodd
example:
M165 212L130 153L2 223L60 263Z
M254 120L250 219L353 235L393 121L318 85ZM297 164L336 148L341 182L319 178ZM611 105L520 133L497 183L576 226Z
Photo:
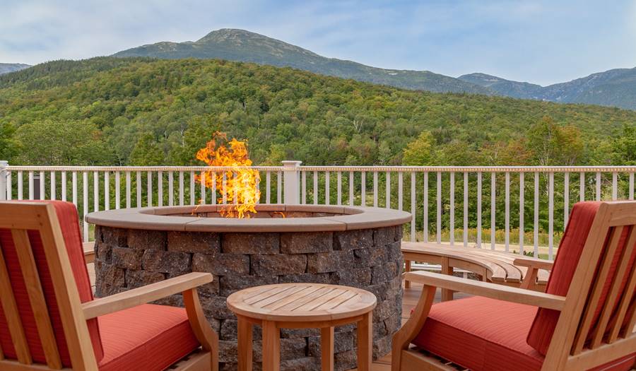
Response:
M11 232L15 248L12 254L16 255L13 258L15 259L13 264L16 266L15 261L18 263L28 305L33 312L37 329L37 338L28 339L25 336L26 331L20 319L11 281L11 278L16 280L15 268L11 276L8 271L8 261L2 254L3 247L0 246L0 303L6 324L11 330L11 343L15 348L18 362L24 365L33 364L30 349L33 349L34 341L36 344L40 341L39 345L42 349L38 352L44 353L47 367L52 370L60 369L63 365L58 343L59 338L63 338L73 369L97 370L88 326L81 311L81 300L54 206L46 203L0 202L0 230ZM36 254L32 245L34 236L39 237L41 241L40 252L37 254L40 254L39 259L42 259L43 252L45 262L42 260L38 262L35 258ZM50 278L47 282L50 282L52 287L49 287L49 284L45 287L41 281L42 269L45 269L47 277ZM45 294L47 292L49 294ZM64 332L63 337L61 334L56 336L54 330L56 325L52 322L52 312L47 305L47 295L51 293L54 299L49 296L48 300L54 300L57 304L58 317ZM29 342L32 348L29 347ZM4 355L6 358L6 349ZM10 361L9 358L6 360L0 358L0 370L3 369L3 362ZM7 367L11 365L7 364ZM33 367L37 370L42 369L42 365L33 365ZM26 369L28 370L28 367Z

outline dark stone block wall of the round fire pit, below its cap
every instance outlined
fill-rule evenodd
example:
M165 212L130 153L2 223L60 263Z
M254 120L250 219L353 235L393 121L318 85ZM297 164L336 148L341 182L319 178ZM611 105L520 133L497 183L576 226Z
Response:
M144 209L130 210L139 216ZM149 209L145 210L149 213ZM199 288L199 295L206 317L220 337L222 370L234 370L237 363L237 321L225 299L237 290L271 283L331 283L369 290L377 297L373 311L374 358L391 350L391 336L401 324L401 220L410 218L407 213L399 215L401 220L397 223L392 222L396 225L374 227L370 223L368 228L353 230L298 232L261 232L263 228L255 228L258 231L254 232L170 230L165 226L157 230L148 229L151 225L143 220L138 226L122 223L126 217L108 223L99 214L87 218L96 224L95 295L104 297L192 271L212 273L213 283ZM184 222L192 219L182 218ZM298 223L300 219L309 218L288 220ZM280 222L285 223L282 219ZM183 306L181 295L158 303ZM259 326L254 326L254 340L254 361L260 362ZM355 344L355 325L336 327L336 370L356 366ZM319 370L319 357L319 330L281 330L283 369Z

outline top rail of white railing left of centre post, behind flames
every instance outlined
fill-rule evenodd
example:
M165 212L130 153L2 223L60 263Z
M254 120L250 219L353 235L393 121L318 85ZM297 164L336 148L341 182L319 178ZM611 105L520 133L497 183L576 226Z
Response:
M261 171L283 170L282 166L15 166L9 165L11 171L227 171L247 167Z

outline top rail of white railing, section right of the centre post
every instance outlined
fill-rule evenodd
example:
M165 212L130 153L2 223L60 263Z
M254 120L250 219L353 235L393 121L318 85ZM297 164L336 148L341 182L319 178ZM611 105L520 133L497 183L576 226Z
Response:
M301 166L301 171L636 172L636 166Z

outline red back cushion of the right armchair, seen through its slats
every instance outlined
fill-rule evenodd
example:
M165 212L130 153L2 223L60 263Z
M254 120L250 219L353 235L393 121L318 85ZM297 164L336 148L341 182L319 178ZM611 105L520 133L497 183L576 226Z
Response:
M546 293L562 296L567 295L567 290L570 289L572 277L577 269L579 259L583 252L583 247L587 241L589 230L591 229L594 217L596 216L596 212L599 211L600 206L601 202L579 202L572 207L570 221L568 222L565 233L563 234L563 239L561 239L557 257L554 261L553 270L550 273L550 279L548 280ZM608 291L616 273L616 267L618 266L620 256L626 248L625 245L627 245L629 230L630 228L623 228L623 233L620 235L616 254L612 257L608 278L603 284L599 303L596 305L594 310L594 317L591 326L592 329L594 329L594 326L599 319L599 315L601 314L601 310L603 309L603 304L606 302ZM608 247L608 241L609 235L606 237L606 241L602 247L603 249ZM603 255L604 254L601 254L601 257L603 257ZM632 269L635 259L636 250L630 257L628 271ZM596 273L598 273L598 269L599 267L597 266ZM622 285L620 286L620 292L625 290L626 283L627 275L623 278ZM620 296L621 295L618 295L617 303L618 300L620 300ZM543 355L548 353L548 346L550 345L550 340L552 339L552 335L556 328L559 314L560 312L558 311L543 308L540 308L536 312L536 317L534 318L534 322L529 331L527 341L530 346Z

